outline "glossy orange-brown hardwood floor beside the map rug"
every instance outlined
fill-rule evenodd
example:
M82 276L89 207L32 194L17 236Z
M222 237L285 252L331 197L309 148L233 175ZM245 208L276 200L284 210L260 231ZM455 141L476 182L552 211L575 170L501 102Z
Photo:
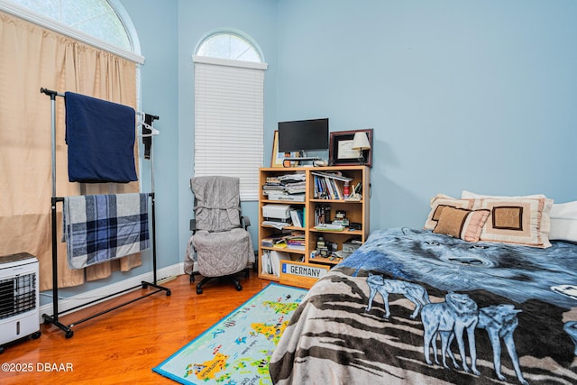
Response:
M175 384L152 367L241 306L267 286L251 271L242 291L230 282L211 281L197 295L188 275L163 283L171 291L116 309L72 327L66 339L54 325L41 325L41 337L9 345L0 354L0 383L8 384ZM197 277L198 282L199 277ZM138 297L140 290L79 310L60 321L79 319ZM7 367L7 368L6 368ZM14 370L14 371L10 371Z

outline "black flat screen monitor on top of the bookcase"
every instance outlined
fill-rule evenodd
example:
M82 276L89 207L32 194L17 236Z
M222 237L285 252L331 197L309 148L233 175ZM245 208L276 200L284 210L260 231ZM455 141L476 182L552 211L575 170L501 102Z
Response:
M279 152L328 150L328 118L279 122Z

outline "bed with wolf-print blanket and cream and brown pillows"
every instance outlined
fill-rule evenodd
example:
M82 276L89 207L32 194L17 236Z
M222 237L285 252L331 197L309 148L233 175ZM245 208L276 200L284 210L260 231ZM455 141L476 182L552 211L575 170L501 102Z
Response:
M273 382L577 383L574 224L545 197L464 200L434 197L425 228L374 231L318 280L272 353ZM461 225L441 229L439 207Z

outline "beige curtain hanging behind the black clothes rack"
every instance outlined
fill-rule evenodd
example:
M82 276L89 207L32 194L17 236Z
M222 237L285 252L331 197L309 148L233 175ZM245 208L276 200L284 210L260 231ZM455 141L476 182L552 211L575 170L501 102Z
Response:
M52 287L50 97L73 91L136 107L136 65L59 33L0 12L0 256L29 252L40 261L40 289ZM81 194L69 183L64 99L56 98L56 195ZM137 145L134 151L136 152ZM135 156L135 159L138 159ZM87 184L83 194L137 192L129 184ZM58 209L59 287L108 277L141 264L140 254L86 270L70 270Z

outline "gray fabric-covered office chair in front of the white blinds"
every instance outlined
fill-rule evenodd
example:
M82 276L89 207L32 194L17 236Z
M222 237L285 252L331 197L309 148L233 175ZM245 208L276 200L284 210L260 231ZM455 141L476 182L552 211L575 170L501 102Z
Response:
M244 270L248 278L255 261L247 231L251 224L248 217L241 215L239 184L240 179L232 177L190 179L195 218L190 221L193 233L188 241L185 271L194 282L197 263L197 273L204 277L197 284L197 294L202 294L202 286L216 277L232 280L235 288L242 290L235 275Z

